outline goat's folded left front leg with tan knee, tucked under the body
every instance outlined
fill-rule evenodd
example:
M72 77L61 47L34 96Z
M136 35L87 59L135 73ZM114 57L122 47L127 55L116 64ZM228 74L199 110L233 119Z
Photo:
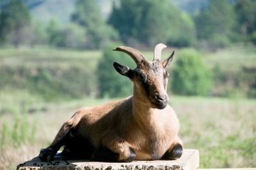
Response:
M136 153L131 145L122 139L111 141L105 139L103 147L95 150L92 160L107 161L107 162L132 162Z

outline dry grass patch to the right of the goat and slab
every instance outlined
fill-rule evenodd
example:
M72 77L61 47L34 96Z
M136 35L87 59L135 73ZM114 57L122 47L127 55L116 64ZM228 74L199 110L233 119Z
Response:
M256 167L255 100L192 97L173 107L185 147L200 151L200 167Z

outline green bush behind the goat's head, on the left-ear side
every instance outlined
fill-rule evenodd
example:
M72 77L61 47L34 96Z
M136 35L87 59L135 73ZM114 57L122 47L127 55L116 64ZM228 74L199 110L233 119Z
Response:
M119 45L120 43L113 43L105 47L102 59L100 59L97 66L101 97L125 97L132 95L132 82L113 68L114 61L129 67L134 66L134 62L129 56L112 50Z

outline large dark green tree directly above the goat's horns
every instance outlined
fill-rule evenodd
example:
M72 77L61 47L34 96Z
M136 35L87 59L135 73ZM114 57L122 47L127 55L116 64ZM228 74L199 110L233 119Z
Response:
M180 11L169 0L161 3L154 0L121 0L120 6L113 4L108 22L118 30L122 41L130 44L154 46L163 42L179 45L180 35L193 32L190 31L193 27L187 27L189 31L180 31L188 22L184 22Z

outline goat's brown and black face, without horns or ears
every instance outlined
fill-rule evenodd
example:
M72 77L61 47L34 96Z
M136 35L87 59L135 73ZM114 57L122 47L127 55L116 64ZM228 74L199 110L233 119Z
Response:
M164 109L168 103L167 70L160 61L141 61L133 70L134 95L150 107Z

